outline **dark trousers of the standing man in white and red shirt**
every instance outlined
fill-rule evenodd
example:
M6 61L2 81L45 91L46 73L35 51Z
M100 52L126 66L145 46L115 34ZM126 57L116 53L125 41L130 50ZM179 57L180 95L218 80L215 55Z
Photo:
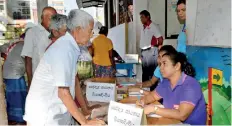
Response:
M157 67L158 48L149 48L146 50L141 49L142 58L142 81L148 81L154 75L155 68Z

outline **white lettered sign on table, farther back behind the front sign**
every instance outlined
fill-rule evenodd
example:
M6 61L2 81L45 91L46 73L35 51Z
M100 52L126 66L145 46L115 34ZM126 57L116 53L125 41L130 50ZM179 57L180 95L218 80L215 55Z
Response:
M116 99L116 84L88 82L86 87L88 101L110 102Z

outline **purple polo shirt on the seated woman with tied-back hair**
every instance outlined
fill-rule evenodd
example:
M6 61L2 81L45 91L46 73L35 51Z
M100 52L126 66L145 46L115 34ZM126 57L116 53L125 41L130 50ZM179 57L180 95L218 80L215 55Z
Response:
M205 125L207 119L206 105L198 81L184 73L176 87L171 88L170 81L163 79L157 86L155 93L163 98L165 108L178 109L181 103L194 105L193 112L183 122L190 125Z

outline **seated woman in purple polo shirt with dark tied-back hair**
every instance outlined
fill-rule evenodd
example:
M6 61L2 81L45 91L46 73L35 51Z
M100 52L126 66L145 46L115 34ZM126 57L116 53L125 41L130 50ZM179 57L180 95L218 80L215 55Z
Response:
M191 125L206 124L206 105L200 84L189 76L193 68L183 53L165 53L160 66L163 81L155 91L145 95L137 105L144 106L145 114L155 113ZM188 71L186 74L183 71ZM154 106L155 101L163 99L165 108Z

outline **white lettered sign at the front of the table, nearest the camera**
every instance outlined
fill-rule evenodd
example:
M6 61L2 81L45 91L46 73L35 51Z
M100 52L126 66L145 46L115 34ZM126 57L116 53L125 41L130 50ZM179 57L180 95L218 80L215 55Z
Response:
M138 126L142 124L143 110L130 105L110 102L109 126Z

